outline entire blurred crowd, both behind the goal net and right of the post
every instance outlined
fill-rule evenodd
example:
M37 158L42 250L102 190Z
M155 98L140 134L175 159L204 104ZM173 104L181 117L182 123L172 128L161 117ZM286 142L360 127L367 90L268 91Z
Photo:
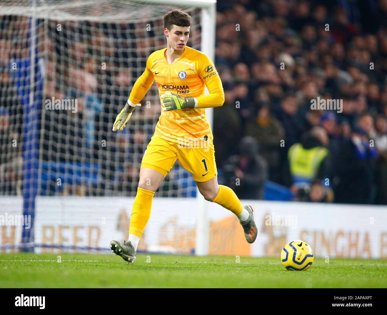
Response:
M387 204L386 16L387 0L217 2L215 65L225 94L214 109L219 180L240 198L263 198L271 180L289 187L296 200ZM58 31L59 22L47 28L38 21L43 100L71 97L79 104L77 113L41 112L39 127L47 131L41 157L103 161L99 194L109 185L135 193L160 113L157 89L126 133L113 135L111 123L163 38L141 32L145 24L67 22ZM29 56L29 20L3 16L1 28L0 191L20 194L22 153L12 141L22 140L24 105L9 63ZM200 43L198 31L188 45ZM321 100L336 107L312 106ZM166 190L177 190L172 182L166 180ZM58 192L55 180L51 188Z

